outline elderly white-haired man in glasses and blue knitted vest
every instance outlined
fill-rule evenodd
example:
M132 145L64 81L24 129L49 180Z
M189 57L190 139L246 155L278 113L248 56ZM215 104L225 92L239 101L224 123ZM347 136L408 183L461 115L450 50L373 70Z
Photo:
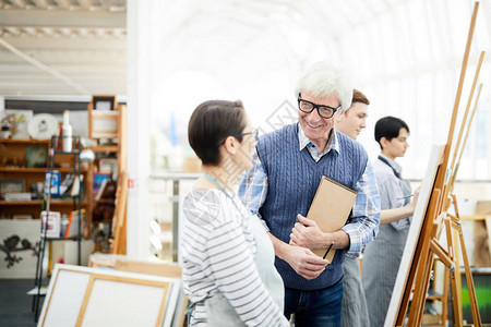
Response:
M297 327L340 326L344 257L357 257L376 234L380 198L366 150L334 129L351 105L349 78L320 62L300 78L295 96L298 122L260 137L239 195L273 241L285 316L295 314ZM347 223L328 233L306 218L323 175L357 192ZM332 263L311 251L331 244L337 250Z

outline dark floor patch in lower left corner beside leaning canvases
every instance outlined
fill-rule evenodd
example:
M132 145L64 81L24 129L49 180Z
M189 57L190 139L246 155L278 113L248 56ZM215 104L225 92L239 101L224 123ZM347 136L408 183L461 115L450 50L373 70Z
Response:
M33 279L0 279L0 326L36 326L33 296L27 291L34 288ZM44 296L40 298L39 312Z

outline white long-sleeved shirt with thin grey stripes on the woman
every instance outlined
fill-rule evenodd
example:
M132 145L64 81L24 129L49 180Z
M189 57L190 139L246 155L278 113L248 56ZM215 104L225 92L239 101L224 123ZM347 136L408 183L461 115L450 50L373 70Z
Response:
M205 300L220 293L247 326L288 326L254 262L261 249L247 219L255 218L237 195L194 190L183 202L183 215L182 279L195 303L190 325L206 325Z

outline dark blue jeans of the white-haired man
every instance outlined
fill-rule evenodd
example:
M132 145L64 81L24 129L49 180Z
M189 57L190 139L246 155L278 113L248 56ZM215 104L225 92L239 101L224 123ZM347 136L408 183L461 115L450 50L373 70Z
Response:
M285 288L285 316L295 314L295 327L339 327L343 304L343 279L315 291Z

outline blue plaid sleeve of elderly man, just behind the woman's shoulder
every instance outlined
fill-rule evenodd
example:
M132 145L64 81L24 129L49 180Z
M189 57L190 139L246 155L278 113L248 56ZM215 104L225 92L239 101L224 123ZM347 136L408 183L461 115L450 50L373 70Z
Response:
M270 228L261 217L259 209L263 206L267 194L267 174L255 149L252 155L252 168L244 171L240 181L239 197L243 205L260 218L266 231Z

